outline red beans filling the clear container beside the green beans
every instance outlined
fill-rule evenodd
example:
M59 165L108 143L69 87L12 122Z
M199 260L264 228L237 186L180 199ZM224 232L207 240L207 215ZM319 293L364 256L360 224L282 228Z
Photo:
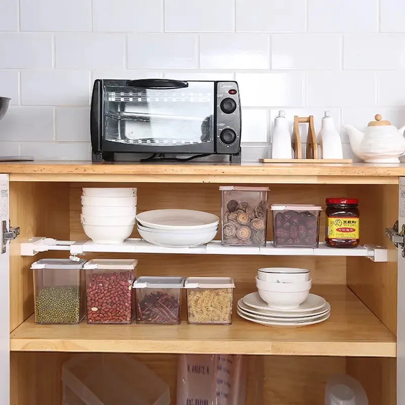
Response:
M87 323L131 323L132 272L93 272L87 282Z

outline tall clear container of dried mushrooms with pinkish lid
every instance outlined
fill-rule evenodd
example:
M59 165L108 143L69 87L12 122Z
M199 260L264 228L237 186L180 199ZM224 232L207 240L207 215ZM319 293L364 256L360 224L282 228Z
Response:
M222 245L265 246L268 187L220 186Z

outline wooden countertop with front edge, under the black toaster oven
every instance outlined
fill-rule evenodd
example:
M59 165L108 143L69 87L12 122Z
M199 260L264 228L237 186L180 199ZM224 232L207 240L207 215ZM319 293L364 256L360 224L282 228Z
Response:
M113 163L34 161L1 163L11 181L135 181L190 183L397 184L405 164Z

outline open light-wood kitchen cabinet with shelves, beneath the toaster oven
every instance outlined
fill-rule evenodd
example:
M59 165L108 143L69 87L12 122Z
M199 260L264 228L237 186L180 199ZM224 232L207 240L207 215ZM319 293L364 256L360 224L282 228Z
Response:
M3 307L10 307L4 311L7 319L3 318L2 327L4 341L9 337L10 344L10 367L4 370L11 370L12 405L61 403L61 365L76 352L131 353L169 384L172 399L176 397L178 353L235 353L250 355L249 375L253 377L248 381L248 404L322 403L326 379L339 373L357 378L371 404L405 403L401 396L396 399L404 372L400 361L397 372L396 357L405 341L403 298L397 299L397 286L405 282L405 259L384 234L400 214L405 166L39 162L0 165L0 173L4 173L0 183L8 185L10 222L21 232L8 245L7 258L0 255L2 269L10 269L9 274L0 272L0 286ZM138 187L139 212L176 207L219 215L219 184L269 186L270 201L297 204L324 205L326 197L357 196L360 217L365 218L361 223L364 247L332 252L323 245L308 251L269 245L250 251L213 241L178 251L150 246L135 231L129 242L97 248L80 224L79 196L85 186ZM405 221L400 215L399 219ZM321 227L320 240L323 232ZM38 235L41 238L31 239ZM42 236L66 243L48 245ZM35 258L21 253L35 254ZM311 270L312 292L331 303L331 317L318 325L293 329L267 328L236 313L231 325L189 325L183 299L181 325L35 325L31 263L71 254L85 254L88 260L136 258L138 276L232 277L234 308L239 298L255 290L258 268L304 267ZM381 255L383 260L376 260ZM373 257L377 262L367 260ZM3 353L7 352L5 348Z

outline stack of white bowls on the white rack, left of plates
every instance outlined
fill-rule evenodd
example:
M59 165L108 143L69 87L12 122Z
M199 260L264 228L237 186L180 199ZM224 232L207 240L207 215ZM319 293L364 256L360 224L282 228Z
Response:
M135 226L137 189L90 188L82 192L80 221L97 244L121 244Z

